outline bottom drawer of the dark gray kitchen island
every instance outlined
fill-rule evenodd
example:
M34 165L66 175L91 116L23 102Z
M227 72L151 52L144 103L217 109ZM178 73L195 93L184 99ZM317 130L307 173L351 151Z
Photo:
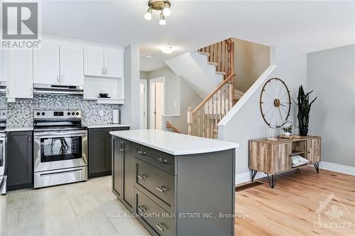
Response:
M137 188L134 189L134 193L137 219L145 225L146 229L152 235L175 235L174 215L167 213Z

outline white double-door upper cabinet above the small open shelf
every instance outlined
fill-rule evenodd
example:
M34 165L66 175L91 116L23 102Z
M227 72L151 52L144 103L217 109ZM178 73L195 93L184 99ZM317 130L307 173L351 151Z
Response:
M124 51L113 48L85 48L84 75L124 77Z

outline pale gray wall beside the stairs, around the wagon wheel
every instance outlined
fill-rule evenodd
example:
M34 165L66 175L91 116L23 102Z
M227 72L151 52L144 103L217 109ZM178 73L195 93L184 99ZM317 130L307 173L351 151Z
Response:
M291 97L297 97L297 87L307 82L307 55L293 48L284 46L271 47L271 64L277 65L272 77L278 77L285 81L290 90ZM236 150L236 173L249 179L249 139L260 139L268 136L268 125L263 121L260 112L260 93L262 86L258 87L243 106L228 120L224 126L218 127L219 139L233 141L240 146ZM233 112L233 109L231 110ZM295 123L295 106L291 107L290 120ZM245 175L243 175L245 174ZM237 176L237 182L241 178Z

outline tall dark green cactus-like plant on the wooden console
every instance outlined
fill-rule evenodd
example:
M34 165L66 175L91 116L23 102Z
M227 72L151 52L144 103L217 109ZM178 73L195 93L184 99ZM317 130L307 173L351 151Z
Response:
M317 97L310 102L310 94L313 92L307 92L303 90L302 85L298 89L298 97L297 102L295 104L298 107L297 119L298 119L298 127L300 129L300 136L307 136L308 134L308 122L310 122L310 107L313 102L317 99Z

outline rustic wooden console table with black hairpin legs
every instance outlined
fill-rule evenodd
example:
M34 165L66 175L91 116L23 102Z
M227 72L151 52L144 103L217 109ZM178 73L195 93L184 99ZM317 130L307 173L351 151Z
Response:
M319 173L321 158L320 136L301 136L295 139L283 139L270 141L267 139L253 139L249 141L249 168L251 169L251 181L256 173L262 171L268 176L271 188L275 187L276 175L290 171L301 166L292 166L292 156L300 155L313 164ZM271 175L271 176L269 176Z

